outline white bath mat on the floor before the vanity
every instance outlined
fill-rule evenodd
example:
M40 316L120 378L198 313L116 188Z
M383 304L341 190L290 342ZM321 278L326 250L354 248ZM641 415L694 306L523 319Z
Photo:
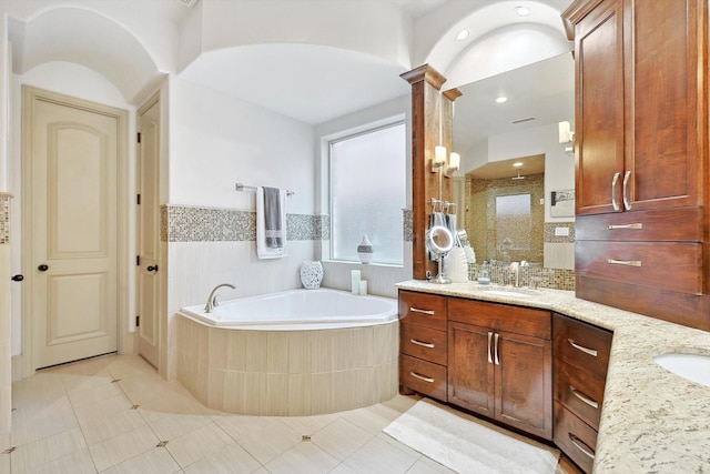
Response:
M554 474L559 451L420 400L383 430L458 473Z

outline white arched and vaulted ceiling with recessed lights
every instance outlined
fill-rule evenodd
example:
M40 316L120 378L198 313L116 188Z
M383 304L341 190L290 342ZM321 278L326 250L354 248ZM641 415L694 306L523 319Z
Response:
M526 54L514 54L511 61L506 50L510 43L501 39L515 31L535 30L538 38L529 37L528 44L535 50L539 38L549 40L558 33L565 38L559 13L560 4L568 2L272 0L268 9L261 1L230 0L233 9L241 9L230 17L220 14L226 0L201 0L193 9L179 0L67 0L61 6L49 0L14 1L21 14L10 17L10 39L17 73L50 61L79 63L115 84L128 102L140 98L162 74L174 73L317 124L407 94L408 84L399 74L420 65L413 63L417 57L426 58L445 75L453 74L445 88L468 82L473 73L480 75L481 58L488 67L493 59L499 62L484 75L511 68L514 62L521 65ZM42 7L26 11L38 4ZM334 7L337 4L347 6L348 14ZM523 21L513 17L514 4L529 4L531 17ZM244 16L252 8L257 9L253 21ZM270 16L278 21L263 24ZM220 21L221 17L226 20ZM174 37L172 27L158 27L165 22L174 27ZM232 27L234 22L241 28ZM329 24L329 29L318 24ZM463 28L469 28L471 37L455 42L454 36ZM245 31L253 37L245 38ZM419 42L423 50L415 53L419 37L428 39ZM184 50L191 58L178 65ZM539 59L529 56L530 62Z

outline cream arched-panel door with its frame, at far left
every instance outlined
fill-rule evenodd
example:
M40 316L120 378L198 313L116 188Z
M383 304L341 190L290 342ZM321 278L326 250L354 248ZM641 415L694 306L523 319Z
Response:
M30 91L23 212L31 214L24 242L40 369L118 350L120 144L116 114Z

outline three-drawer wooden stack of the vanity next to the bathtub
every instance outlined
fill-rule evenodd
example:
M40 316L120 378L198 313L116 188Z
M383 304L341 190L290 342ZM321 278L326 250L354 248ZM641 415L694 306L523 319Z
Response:
M399 290L399 385L446 402L446 296Z

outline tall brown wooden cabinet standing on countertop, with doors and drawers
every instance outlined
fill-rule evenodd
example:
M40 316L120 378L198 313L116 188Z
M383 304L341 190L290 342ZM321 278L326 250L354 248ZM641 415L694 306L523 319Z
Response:
M562 19L577 296L710 329L708 2L576 0Z

